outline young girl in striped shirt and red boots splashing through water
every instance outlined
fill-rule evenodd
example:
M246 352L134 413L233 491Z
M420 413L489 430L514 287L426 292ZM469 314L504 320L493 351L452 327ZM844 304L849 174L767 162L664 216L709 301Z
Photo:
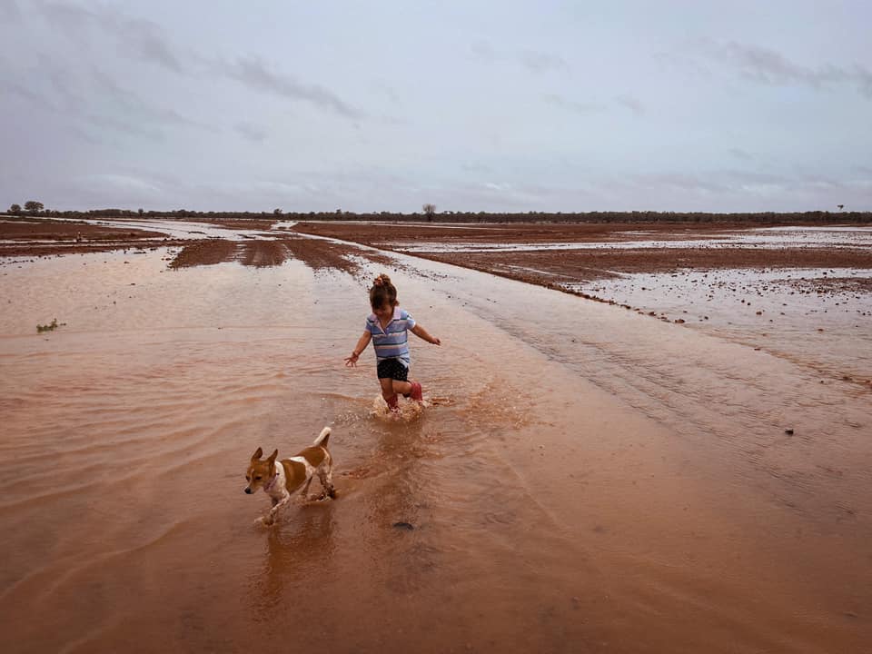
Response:
M400 302L397 302L397 289L391 283L391 278L383 272L372 283L370 306L372 306L372 313L366 319L366 331L354 346L352 355L345 359L345 365L356 366L358 358L372 339L378 362L381 397L388 403L391 411L399 411L398 394L411 397L412 400L423 401L421 384L417 381L408 381L410 362L408 332L434 345L440 345L441 342L415 322L409 312L400 309Z

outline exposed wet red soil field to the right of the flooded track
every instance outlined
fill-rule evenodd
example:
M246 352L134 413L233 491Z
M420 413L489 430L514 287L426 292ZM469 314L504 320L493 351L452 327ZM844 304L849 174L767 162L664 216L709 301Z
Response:
M758 225L718 223L597 223L510 224L471 226L300 223L301 233L364 243L392 250L397 243L597 243L633 240L694 240L736 233ZM771 225L767 225L771 226ZM872 252L860 249L785 247L713 248L609 248L538 252L416 253L424 259L560 288L561 283L588 282L613 277L615 272L676 272L680 269L741 268L872 268ZM820 280L820 291L830 282ZM872 289L870 280L852 280L857 288ZM560 288L562 291L566 289ZM566 291L570 292L570 291ZM592 296L581 294L590 299Z

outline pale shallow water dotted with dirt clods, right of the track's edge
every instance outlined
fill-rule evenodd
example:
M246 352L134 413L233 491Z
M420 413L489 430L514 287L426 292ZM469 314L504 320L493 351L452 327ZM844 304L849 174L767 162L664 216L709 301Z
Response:
M865 383L872 294L861 284L870 278L850 268L681 270L561 286L787 359L824 383Z

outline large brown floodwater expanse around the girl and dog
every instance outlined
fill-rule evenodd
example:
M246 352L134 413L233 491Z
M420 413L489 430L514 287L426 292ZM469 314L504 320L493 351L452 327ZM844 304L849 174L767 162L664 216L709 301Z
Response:
M168 256L0 266L4 652L870 650L872 393L802 352L400 256L391 421L364 282Z

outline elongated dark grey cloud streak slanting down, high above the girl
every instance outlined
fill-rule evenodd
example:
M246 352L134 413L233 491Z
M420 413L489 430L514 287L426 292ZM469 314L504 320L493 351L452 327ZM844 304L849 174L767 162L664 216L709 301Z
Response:
M290 75L273 73L257 57L242 57L232 63L216 64L216 70L258 91L310 102L347 118L362 118L359 111L331 91L317 84L301 84Z

